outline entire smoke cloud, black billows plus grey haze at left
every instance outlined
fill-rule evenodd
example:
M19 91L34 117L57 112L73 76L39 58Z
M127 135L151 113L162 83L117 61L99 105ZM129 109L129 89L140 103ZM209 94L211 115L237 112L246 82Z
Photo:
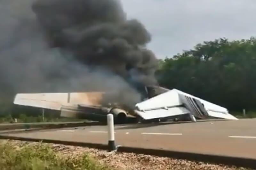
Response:
M151 36L118 0L2 1L1 89L113 92L133 105L135 86L155 85Z

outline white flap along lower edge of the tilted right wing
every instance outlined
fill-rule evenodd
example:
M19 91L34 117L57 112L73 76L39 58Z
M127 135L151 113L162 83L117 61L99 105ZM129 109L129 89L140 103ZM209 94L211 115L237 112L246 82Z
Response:
M164 118L164 117L171 117L176 115L184 115L190 113L188 109L185 107L172 107L168 109L155 109L155 110L148 110L145 112L136 111L140 117L145 120L155 119L155 118Z

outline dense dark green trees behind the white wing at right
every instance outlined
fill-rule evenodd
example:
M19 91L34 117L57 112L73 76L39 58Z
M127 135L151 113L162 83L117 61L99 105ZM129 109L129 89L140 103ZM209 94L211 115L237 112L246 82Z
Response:
M255 110L256 39L205 41L159 61L160 85L176 88L231 111Z

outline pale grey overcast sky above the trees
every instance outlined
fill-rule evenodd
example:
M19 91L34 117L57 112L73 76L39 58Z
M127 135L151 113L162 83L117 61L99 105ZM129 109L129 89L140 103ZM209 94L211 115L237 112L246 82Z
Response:
M256 33L256 0L121 0L128 18L152 35L157 58L172 57L220 37L248 39Z

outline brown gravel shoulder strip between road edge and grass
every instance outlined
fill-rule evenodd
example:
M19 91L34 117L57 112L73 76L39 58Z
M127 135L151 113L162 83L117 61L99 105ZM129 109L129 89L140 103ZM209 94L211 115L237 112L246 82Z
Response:
M7 140L0 140L7 141ZM24 142L18 140L9 140L16 147L22 147L25 144L30 145L49 145L38 142ZM246 168L236 166L225 166L221 164L209 164L204 162L188 161L183 159L172 159L167 157L157 157L144 154L134 154L125 152L108 152L99 149L86 147L69 146L62 144L50 144L52 149L62 155L79 156L88 153L102 164L107 164L113 170L247 170Z

